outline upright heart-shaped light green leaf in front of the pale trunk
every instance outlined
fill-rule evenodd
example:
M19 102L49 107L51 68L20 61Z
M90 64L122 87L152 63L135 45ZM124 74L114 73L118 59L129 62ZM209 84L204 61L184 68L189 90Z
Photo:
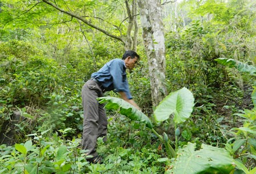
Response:
M160 102L154 111L155 120L158 122L167 120L174 114L174 122L179 124L189 118L193 111L194 97L192 92L183 87L170 93Z

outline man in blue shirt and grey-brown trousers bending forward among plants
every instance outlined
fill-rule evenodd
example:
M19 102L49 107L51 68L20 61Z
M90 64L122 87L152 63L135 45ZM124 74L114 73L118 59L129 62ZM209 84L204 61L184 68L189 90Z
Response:
M104 105L98 103L97 97L103 96L105 91L117 91L123 100L140 109L130 94L126 79L126 69L133 69L139 61L139 55L134 51L126 51L121 59L114 59L106 63L100 70L93 73L91 79L82 87L82 106L84 108L84 124L82 133L82 149L88 150L87 159L90 163L101 163L102 158L96 152L98 137L104 137L108 120Z

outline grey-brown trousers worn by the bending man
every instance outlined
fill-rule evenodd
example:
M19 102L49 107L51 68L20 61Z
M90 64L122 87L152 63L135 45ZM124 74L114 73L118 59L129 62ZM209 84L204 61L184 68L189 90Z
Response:
M98 137L106 141L108 119L104 105L98 103L97 97L103 96L101 88L93 80L88 80L82 87L82 107L84 108L84 124L82 130L82 149L87 155L97 156L96 143Z

